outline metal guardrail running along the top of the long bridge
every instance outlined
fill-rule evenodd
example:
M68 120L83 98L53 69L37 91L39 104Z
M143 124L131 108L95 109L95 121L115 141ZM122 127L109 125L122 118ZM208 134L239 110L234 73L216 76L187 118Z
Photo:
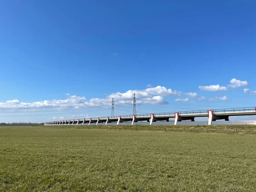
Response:
M226 113L226 112L241 112L241 111L256 111L256 107L248 107L248 108L227 108L227 109L213 109L214 113ZM179 111L179 114L201 114L201 113L208 113L208 110L198 110L198 111ZM166 113L154 113L154 116L163 116L163 115L174 115L175 112L166 112ZM138 116L151 116L151 113L144 113L144 114L137 114ZM133 115L121 115L121 117L133 117ZM118 118L118 116L109 116L109 118ZM75 121L82 121L82 120L90 120L90 119L98 119L98 117L92 118L81 118L75 119ZM99 117L99 119L107 119L106 116ZM64 120L65 121L65 120ZM69 120L67 120L68 122ZM54 121L56 122L56 121ZM70 119L70 122L73 122L73 119Z

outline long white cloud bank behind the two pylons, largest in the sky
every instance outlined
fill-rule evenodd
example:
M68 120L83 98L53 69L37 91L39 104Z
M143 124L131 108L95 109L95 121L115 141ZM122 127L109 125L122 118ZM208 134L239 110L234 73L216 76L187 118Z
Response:
M36 111L37 109L55 108L57 110L65 110L68 108L95 108L95 107L110 107L112 98L114 98L115 105L132 105L133 96L136 94L137 105L140 104L153 104L162 105L168 104L163 96L181 96L197 97L197 93L183 93L181 91L168 89L166 87L148 87L144 90L128 90L125 93L112 93L105 98L92 98L86 99L84 96L70 95L66 93L67 99L52 99L38 102L20 102L18 99L0 102L0 109L8 109L15 111L20 109L22 111Z

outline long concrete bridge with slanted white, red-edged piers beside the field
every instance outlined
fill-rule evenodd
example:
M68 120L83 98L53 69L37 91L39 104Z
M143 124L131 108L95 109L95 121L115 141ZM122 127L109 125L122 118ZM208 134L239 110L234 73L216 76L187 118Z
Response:
M195 117L208 117L208 125L212 125L212 121L219 119L225 119L229 121L230 116L245 116L245 115L256 115L256 107L251 108L229 108L229 109L210 109L202 111L180 111L180 112L169 112L169 113L147 113L137 115L119 115L119 116L104 116L84 119L73 119L73 120L62 120L46 122L44 125L108 125L108 123L116 122L119 125L121 122L134 122L147 121L150 125L157 121L167 121L170 118L174 118L174 125L177 122L184 120L195 121Z

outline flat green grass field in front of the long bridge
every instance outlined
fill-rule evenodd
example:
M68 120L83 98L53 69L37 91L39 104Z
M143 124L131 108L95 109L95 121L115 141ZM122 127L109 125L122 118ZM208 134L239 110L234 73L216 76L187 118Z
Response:
M0 126L0 191L256 191L256 126L93 128Z

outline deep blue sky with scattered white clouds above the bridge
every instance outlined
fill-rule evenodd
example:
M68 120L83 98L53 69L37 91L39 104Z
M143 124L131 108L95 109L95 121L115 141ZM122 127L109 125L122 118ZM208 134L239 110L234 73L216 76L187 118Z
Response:
M134 92L137 113L256 106L255 10L253 0L1 1L0 122L110 116L112 96L115 115L131 114Z

